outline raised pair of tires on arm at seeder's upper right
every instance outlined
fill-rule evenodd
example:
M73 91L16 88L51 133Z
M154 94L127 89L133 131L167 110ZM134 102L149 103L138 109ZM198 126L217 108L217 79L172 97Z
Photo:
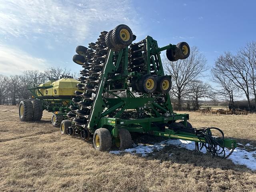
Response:
M179 59L186 59L190 55L190 47L186 42L180 42L175 49L166 50L166 57L169 61L177 61Z

